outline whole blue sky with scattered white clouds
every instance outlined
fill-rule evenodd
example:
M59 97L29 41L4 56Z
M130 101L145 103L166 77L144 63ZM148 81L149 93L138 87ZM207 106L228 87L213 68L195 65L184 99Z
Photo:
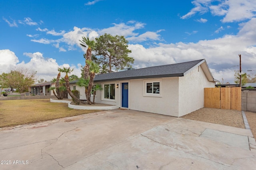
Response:
M206 59L217 80L256 74L254 0L77 0L0 2L0 73L16 67L50 81L57 68L80 75L82 36L124 35L134 68Z

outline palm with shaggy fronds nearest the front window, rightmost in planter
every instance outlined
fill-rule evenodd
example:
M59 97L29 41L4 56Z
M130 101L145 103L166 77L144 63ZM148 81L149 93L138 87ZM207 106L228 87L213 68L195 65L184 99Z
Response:
M89 80L88 91L87 91L87 95L90 96L92 86L93 86L93 80L95 78L95 74L100 72L100 66L99 64L94 63L93 61L86 61L86 63L90 66L90 80ZM90 97L89 97L88 104L91 104Z

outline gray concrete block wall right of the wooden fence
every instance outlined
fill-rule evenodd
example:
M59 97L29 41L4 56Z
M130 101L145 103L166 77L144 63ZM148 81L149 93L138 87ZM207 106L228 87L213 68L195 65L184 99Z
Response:
M244 90L242 92L242 110L256 113L256 91Z

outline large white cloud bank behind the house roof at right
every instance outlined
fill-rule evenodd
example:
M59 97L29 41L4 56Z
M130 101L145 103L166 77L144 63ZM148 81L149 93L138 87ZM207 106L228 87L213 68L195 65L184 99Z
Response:
M242 54L242 70L255 70L256 65L256 18L244 23L237 35L225 35L197 43L158 43L157 47L145 48L139 44L129 44L129 55L135 59L134 68L162 64L181 63L206 59L214 78L234 83L234 70L239 65L238 54ZM254 64L254 65L253 65Z

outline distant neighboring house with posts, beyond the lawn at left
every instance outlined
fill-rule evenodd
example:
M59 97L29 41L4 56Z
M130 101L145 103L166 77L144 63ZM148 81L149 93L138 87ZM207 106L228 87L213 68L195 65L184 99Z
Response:
M30 86L29 92L32 95L53 95L49 88L52 86L52 82L36 83Z

